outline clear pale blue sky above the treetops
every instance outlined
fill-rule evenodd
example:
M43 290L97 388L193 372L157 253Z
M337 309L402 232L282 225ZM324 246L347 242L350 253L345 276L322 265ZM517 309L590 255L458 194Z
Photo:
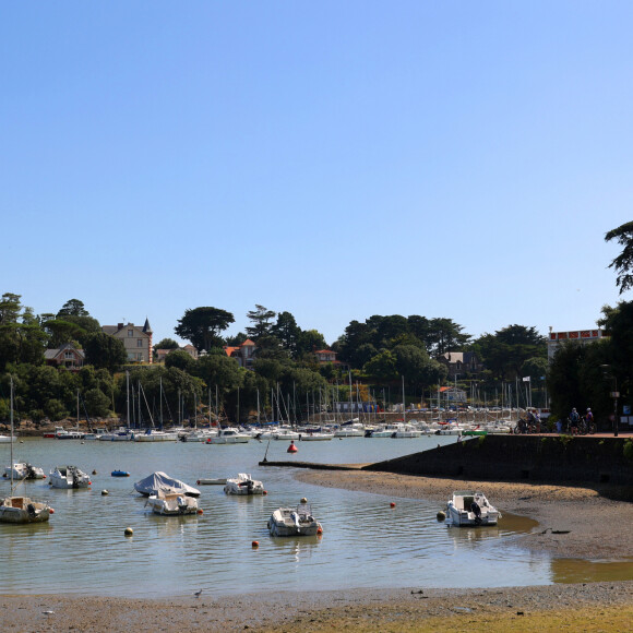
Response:
M632 219L631 2L4 2L0 292L590 327ZM630 297L623 296L624 299Z

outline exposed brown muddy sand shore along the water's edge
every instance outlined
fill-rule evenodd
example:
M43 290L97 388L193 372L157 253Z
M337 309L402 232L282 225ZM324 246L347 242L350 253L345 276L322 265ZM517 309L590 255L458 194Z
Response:
M629 559L631 490L477 482L361 470L300 470L300 481L445 506L454 489L482 488L503 512L539 522L515 544L558 558ZM313 584L310 587L310 584ZM178 588L175 588L178 593ZM306 592L168 600L97 596L0 597L3 631L625 631L633 621L633 581L493 589L354 589L329 592L307 578Z

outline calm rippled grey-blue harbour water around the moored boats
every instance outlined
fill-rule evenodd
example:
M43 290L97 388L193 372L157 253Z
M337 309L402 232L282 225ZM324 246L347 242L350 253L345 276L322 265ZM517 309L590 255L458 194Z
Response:
M320 463L363 463L432 449L455 438L414 440L349 438L299 442L296 458ZM287 442L271 442L268 461L287 459ZM85 442L25 439L14 461L49 473L76 465L92 476L89 490L57 490L45 481L24 482L16 493L55 507L50 522L0 524L2 590L15 594L69 593L159 597L189 595L200 587L214 595L277 589L348 587L494 587L548 584L561 575L546 554L512 546L512 537L534 523L505 516L497 528L457 529L438 523L437 503L297 482L288 468L260 468L267 443ZM0 445L1 464L10 446ZM115 478L111 470L131 473ZM134 481L155 470L195 485L199 477L239 471L261 479L265 497L226 497L220 486L202 486L203 515L148 514ZM0 478L0 492L9 481ZM109 495L101 495L107 489ZM271 538L266 521L279 505L307 497L323 524L322 537ZM492 500L494 501L494 500ZM503 509L501 509L503 510ZM132 527L134 536L123 536ZM260 542L253 549L253 540ZM586 578L585 578L586 580Z

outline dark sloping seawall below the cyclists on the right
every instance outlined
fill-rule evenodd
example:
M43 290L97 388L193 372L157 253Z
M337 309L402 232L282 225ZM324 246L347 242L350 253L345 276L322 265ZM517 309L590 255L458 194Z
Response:
M429 477L631 486L631 442L626 438L590 435L482 435L370 464L363 469Z

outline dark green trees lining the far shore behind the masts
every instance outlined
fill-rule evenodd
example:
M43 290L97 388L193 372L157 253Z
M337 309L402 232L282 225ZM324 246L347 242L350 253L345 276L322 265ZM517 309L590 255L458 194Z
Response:
M611 263L622 294L633 287L633 223L609 231L606 239L623 246ZM316 330L302 330L290 312L255 304L247 318L244 332L224 336L235 323L232 313L208 306L188 309L175 334L204 355L193 359L176 349L176 341L164 338L155 349L174 349L164 366L134 366L129 363L122 342L103 333L81 300L71 299L58 312L36 315L22 306L20 295L5 292L0 299L0 419L9 417L10 375L19 415L36 421L74 415L77 394L81 407L93 417L126 413L130 389L139 399L143 395L147 418L152 411L164 410L165 405L172 420L176 411L179 416L186 410L191 414L194 403L214 408L216 395L235 421L246 419L258 402L262 410L273 415L275 399L277 405L282 401L289 407L287 403L292 402L295 408L303 409L310 402L315 407L323 394L330 402L346 401L350 383L361 384L366 398L375 398L372 392L391 387L395 394L403 378L409 397L422 401L425 394L445 384L443 357L453 351L477 355L485 369L476 375L465 369L459 381L462 385L476 381L478 389L489 390L489 394L503 381L545 378L540 386L547 390L551 408L560 417L572 406L592 406L608 416L616 386L622 394L621 403L628 402L631 389L630 302L602 309L598 324L609 337L587 346L563 345L549 366L547 339L533 326L512 324L474 338L451 319L372 315L362 322L351 321L330 346L338 363L322 365L314 351L327 347L324 336ZM247 338L256 345L253 371L239 367L224 349ZM65 343L84 350L85 366L77 372L45 365L45 350Z

